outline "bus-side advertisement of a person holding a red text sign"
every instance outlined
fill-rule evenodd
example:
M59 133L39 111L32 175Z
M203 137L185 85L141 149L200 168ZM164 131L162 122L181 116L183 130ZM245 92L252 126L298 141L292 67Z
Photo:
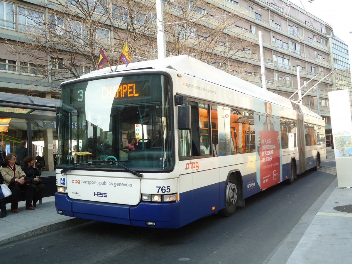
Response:
M262 190L281 182L281 157L279 122L275 122L273 115L278 116L278 109L272 109L269 102L264 103L265 113L260 115L260 123L257 127L259 155L259 168L257 167L257 181ZM263 111L260 111L263 112ZM278 120L278 119L277 119ZM258 124L258 123L257 123Z

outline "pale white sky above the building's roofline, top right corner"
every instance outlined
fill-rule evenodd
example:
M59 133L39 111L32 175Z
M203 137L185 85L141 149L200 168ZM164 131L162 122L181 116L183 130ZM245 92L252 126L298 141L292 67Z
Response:
M351 0L289 0L333 28L334 35L348 45L352 59L352 1ZM304 8L303 8L304 7ZM284 8L285 9L285 8ZM351 66L351 65L350 65Z

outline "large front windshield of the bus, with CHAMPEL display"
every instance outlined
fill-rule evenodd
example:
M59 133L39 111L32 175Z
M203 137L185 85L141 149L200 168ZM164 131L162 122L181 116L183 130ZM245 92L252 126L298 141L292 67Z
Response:
M167 170L171 149L171 82L128 75L62 85L58 166ZM113 162L114 161L114 162ZM89 164L89 166L88 166Z

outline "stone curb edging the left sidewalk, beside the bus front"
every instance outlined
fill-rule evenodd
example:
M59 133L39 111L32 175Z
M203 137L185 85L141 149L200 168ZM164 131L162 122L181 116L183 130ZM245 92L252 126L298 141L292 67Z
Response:
M38 225L38 226L33 227L32 229L28 229L28 231L26 231L26 232L18 231L16 233L13 233L11 235L8 235L8 236L2 238L0 241L0 246L3 246L8 243L12 243L14 241L26 239L26 238L33 237L36 235L40 235L40 234L43 234L46 232L60 230L63 228L80 225L80 224L83 224L83 223L89 222L89 221L90 220L86 220L86 219L72 218L72 219L67 219L67 220L53 221L50 224Z

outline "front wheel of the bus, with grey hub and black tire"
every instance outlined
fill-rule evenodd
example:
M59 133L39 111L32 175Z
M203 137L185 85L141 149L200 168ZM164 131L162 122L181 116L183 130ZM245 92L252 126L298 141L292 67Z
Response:
M239 202L239 185L235 176L230 175L225 189L225 208L219 211L222 216L234 214Z

